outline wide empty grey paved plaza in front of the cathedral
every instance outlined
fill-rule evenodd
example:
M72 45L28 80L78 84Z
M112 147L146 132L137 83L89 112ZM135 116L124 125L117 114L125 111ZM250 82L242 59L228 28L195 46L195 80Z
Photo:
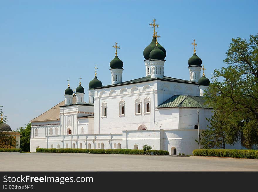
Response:
M258 171L257 159L155 155L0 153L1 171Z

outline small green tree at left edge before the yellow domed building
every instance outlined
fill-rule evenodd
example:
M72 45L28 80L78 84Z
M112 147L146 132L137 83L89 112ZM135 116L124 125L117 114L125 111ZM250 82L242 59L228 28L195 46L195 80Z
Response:
M3 107L3 106L0 106ZM0 115L4 115L2 109L0 109ZM7 120L6 116L0 120L0 148L11 148L16 146L15 138L6 131L1 131L1 126Z

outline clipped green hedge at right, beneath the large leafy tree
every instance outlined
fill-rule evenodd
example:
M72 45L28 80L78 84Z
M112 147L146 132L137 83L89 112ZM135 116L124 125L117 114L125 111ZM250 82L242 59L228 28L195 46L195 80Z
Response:
M244 149L195 149L194 156L212 156L212 157L235 157L245 159L258 159L258 150Z

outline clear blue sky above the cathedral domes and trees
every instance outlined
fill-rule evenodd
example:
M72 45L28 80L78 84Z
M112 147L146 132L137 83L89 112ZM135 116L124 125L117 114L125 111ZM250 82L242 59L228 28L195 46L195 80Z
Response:
M189 79L187 61L202 59L206 77L225 66L231 38L258 32L258 1L0 1L0 105L12 130L97 77L111 84L109 62L120 45L123 81L145 76L143 50L155 18L166 49L164 75Z

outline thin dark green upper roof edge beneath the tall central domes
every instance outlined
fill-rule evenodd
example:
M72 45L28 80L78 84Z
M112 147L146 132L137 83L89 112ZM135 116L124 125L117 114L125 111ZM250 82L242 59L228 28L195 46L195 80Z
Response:
M148 75L146 77L141 77L138 79L133 79L130 81L124 81L122 83L116 83L113 85L106 85L106 86L102 86L102 87L96 87L94 89L103 89L103 88L108 88L108 87L115 87L115 86L120 86L120 85L128 85L128 84L135 84L135 83L141 83L141 82L146 82L146 81L155 81L155 80L161 80L161 81L171 81L171 82L177 82L177 83L187 83L187 84L198 84L195 81L189 81L189 80L184 80L184 79L176 79L176 78L172 78L172 77L155 77L155 78L151 78L151 75Z

